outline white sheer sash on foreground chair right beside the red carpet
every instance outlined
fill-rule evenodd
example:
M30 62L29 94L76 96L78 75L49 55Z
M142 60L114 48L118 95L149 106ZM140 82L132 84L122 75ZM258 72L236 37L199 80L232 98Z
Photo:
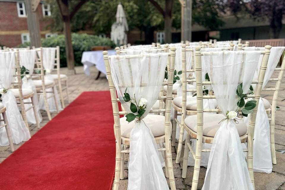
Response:
M145 118L159 97L168 53L141 53L134 56L136 58L129 58L128 55L110 56L111 73L118 98L128 113L132 112L130 103L124 102L122 98L125 90L137 102L141 98L147 100L143 114ZM143 121L133 122L135 126L130 133L128 190L168 190L159 160L160 153L151 130Z

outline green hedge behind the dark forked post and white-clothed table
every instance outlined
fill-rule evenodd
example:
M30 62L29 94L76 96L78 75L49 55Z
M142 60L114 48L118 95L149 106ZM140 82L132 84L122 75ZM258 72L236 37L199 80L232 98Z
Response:
M42 47L60 47L60 66L66 67L65 38L64 35L42 38ZM90 51L95 45L107 45L115 48L115 44L110 38L103 38L88 34L72 33L72 46L74 52L75 66L80 66L83 51ZM30 46L30 42L19 45L18 47Z

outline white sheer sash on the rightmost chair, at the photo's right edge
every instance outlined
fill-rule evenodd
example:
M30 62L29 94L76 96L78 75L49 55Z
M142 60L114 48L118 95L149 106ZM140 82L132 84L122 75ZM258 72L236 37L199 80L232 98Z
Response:
M268 58L267 69L264 76L262 88L265 88L270 77L272 76L274 69L276 68L279 59L284 51L285 47L272 47ZM247 51L261 50L264 51L265 47L245 47ZM254 80L257 80L260 65L262 62L262 56L259 58L258 67L254 75ZM255 85L252 85L255 87ZM246 124L249 124L249 117L244 118ZM272 159L270 149L270 125L268 116L264 107L264 102L259 99L259 105L256 115L256 123L254 128L254 141L253 141L253 169L255 172L272 172Z

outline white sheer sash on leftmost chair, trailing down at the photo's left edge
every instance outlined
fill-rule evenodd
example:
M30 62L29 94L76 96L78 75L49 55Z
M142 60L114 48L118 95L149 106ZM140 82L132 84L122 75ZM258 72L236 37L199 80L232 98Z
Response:
M19 144L31 138L29 129L25 125L22 115L18 110L14 94L9 90L15 75L15 52L0 52L0 88L6 89L2 94L2 103L6 106L6 115L12 133L13 143ZM0 129L0 145L9 145L5 127Z

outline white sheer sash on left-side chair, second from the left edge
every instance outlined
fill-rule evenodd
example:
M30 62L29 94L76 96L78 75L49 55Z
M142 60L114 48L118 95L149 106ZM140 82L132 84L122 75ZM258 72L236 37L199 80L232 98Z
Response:
M20 66L24 66L26 69L29 70L29 77L24 76L22 81L23 85L22 88L27 88L31 89L34 92L34 96L32 97L34 99L34 107L37 110L36 116L38 117L38 121L42 121L42 114L40 113L39 110L39 100L38 100L38 95L37 95L37 90L36 90L36 85L34 81L31 78L31 75L34 72L34 64L36 60L36 50L20 50L19 51L19 60L20 60ZM28 102L31 102L31 98L29 99L24 99L25 102L25 109L28 109L31 107L31 104L28 104ZM36 118L34 114L34 110L30 109L26 111L26 118L29 124L36 124Z

